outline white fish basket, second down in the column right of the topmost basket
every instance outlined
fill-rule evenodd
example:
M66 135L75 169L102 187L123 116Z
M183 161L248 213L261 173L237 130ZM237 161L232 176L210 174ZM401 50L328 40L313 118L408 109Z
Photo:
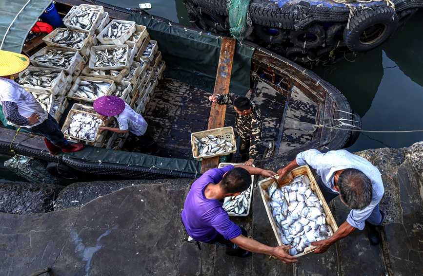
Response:
M128 45L101 45L91 47L90 69L119 70L131 66Z

